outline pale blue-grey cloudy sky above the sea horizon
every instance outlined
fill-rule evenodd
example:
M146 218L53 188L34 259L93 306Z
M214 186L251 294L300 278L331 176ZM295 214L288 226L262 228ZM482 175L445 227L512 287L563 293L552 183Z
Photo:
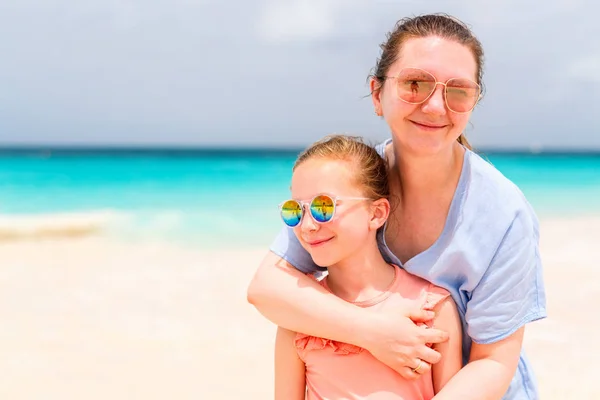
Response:
M383 139L367 76L395 22L428 12L484 46L474 145L600 150L592 0L2 1L0 145Z

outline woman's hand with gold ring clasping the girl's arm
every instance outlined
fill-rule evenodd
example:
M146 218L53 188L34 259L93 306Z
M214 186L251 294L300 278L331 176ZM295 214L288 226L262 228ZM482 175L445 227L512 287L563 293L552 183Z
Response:
M377 313L365 338L366 348L375 358L396 370L406 379L417 379L431 370L441 359L432 344L448 340L448 334L435 328L418 326L430 321L434 313L425 310L407 311L404 315L389 310Z

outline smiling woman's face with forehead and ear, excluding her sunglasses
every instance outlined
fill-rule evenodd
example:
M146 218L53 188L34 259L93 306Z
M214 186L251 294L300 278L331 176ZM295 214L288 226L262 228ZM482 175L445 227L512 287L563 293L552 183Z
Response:
M471 50L437 36L407 40L387 76L397 76L409 67L429 72L438 82L450 78L477 82L477 64ZM402 153L414 155L432 155L451 148L465 130L471 112L450 111L444 101L443 85L437 85L424 103L409 104L398 98L396 84L396 79L386 79L382 90L373 91L375 110L389 125L395 146ZM371 89L374 88L371 81Z

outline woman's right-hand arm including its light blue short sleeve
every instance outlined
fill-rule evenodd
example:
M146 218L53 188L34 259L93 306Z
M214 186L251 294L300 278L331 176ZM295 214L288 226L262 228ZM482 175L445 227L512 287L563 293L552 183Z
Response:
M506 393L519 364L525 324L546 316L538 242L535 215L516 213L467 304L469 363L436 400L492 400Z

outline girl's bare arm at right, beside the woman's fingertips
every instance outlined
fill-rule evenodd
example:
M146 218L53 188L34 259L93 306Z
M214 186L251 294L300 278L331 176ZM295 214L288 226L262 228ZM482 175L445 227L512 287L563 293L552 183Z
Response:
M442 355L440 362L431 367L433 389L439 393L462 368L462 326L452 297L438 304L435 314L434 326L448 332L449 336L448 341L433 346Z

